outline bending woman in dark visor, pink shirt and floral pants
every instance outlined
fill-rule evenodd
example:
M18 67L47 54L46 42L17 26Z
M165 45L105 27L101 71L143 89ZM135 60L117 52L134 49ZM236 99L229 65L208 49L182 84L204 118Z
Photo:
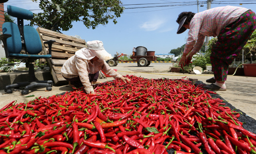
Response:
M228 67L256 29L255 13L243 7L223 6L200 13L183 12L176 22L179 23L177 34L190 29L179 63L181 66L189 63L192 56L201 49L205 36L217 36L218 41L212 47L210 55L214 77L206 80L213 84L203 88L226 90Z

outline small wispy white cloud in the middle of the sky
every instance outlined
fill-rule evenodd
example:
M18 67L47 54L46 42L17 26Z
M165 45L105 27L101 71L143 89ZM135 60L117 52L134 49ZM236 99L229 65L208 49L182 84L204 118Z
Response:
M151 21L144 22L139 27L145 29L146 31L155 31L161 28L166 21L164 19L151 19Z

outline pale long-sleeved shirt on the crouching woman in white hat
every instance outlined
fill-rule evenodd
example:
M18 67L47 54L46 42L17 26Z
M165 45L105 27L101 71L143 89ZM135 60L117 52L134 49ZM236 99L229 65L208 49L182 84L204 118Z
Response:
M70 57L62 66L61 74L65 78L80 78L83 86L85 87L85 91L87 94L90 92L94 92L91 83L89 82L89 74L94 74L98 71L102 70L106 74L114 77L121 78L118 72L112 69L105 60L98 59L97 61L91 62L91 60L85 60L77 57L76 55Z

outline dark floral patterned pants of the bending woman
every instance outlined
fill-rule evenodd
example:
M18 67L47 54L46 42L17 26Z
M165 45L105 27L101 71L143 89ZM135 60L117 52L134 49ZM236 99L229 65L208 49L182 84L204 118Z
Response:
M235 22L225 26L212 47L210 60L217 81L226 81L229 65L239 55L256 29L256 14L248 10Z

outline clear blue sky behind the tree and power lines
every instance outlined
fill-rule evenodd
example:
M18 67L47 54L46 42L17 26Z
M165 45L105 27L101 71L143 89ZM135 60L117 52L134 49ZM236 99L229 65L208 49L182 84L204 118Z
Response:
M170 50L181 47L186 43L187 31L177 35L178 24L177 16L183 11L191 11L197 13L197 0L121 0L124 5L127 4L145 4L145 3L163 3L156 5L132 5L125 6L141 7L141 6L164 6L173 4L171 2L186 2L185 6L168 6L153 7L141 9L125 9L120 18L117 18L117 24L112 21L108 25L99 25L95 29L88 29L82 22L74 22L73 28L69 31L62 31L66 35L79 35L85 41L100 40L103 42L105 50L114 56L116 52L131 54L133 47L144 46L148 51L155 53L169 53ZM211 8L218 6L242 6L252 9L256 12L256 4L249 3L245 0L221 0L229 4L219 4L220 0L214 0ZM243 2L244 1L244 2ZM207 9L207 0L199 0L199 12ZM255 2L255 1L254 1ZM236 4L232 4L236 3ZM238 3L243 3L239 5ZM7 11L7 5L13 5L24 9L39 9L39 3L32 0L9 0L4 3L4 9ZM178 3L175 3L178 4ZM200 5L203 5L200 7ZM39 11L32 11L38 13ZM25 22L26 24L26 22Z

